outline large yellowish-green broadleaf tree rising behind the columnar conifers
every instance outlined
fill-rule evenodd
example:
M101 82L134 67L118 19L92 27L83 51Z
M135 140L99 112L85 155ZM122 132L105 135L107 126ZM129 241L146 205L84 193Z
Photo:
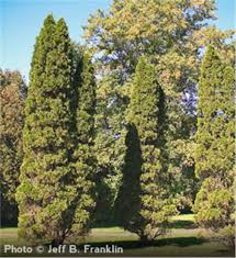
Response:
M181 209L191 209L198 190L198 183L193 182L192 146L201 53L210 42L223 46L225 38L233 34L207 25L207 21L214 19L214 0L116 0L108 12L98 11L90 16L85 37L94 54L99 79L102 77L98 83L101 108L97 132L109 135L106 141L100 141L102 136L98 139L100 147L106 150L101 160L110 160L110 166L101 170L106 175L115 173L116 189L122 175L122 162L116 160L125 155L121 146L125 138L123 121L131 79L139 57L146 55L155 59L158 80L166 94L169 172L176 178L172 193L179 195ZM233 53L227 47L220 48Z

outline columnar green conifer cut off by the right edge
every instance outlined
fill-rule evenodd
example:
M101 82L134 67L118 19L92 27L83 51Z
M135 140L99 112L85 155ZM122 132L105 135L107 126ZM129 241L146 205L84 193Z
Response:
M202 186L194 211L198 223L234 246L234 69L209 46L198 90L195 172Z

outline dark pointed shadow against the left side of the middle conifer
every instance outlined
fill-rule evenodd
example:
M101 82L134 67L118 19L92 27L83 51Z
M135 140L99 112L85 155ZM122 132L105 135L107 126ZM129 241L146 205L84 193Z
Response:
M135 124L127 124L126 127L126 153L122 183L115 201L115 218L124 229L139 235L141 217L137 211L141 210L141 141Z

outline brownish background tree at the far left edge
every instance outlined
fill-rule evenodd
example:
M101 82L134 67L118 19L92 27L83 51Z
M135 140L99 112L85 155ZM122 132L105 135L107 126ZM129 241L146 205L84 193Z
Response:
M16 225L15 190L23 159L22 131L26 86L19 71L0 70L1 223Z

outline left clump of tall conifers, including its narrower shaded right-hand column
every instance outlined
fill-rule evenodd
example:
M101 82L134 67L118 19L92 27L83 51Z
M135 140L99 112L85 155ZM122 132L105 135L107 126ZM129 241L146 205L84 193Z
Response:
M36 40L18 189L20 235L61 244L89 229L94 206L95 83L90 57L48 15Z

